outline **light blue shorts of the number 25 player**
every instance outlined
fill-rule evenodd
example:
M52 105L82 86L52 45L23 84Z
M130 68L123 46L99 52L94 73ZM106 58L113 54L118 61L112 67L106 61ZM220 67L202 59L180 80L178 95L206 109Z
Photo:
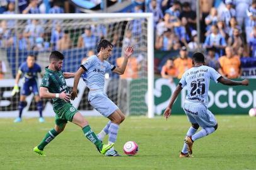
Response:
M184 103L183 110L190 123L197 123L202 128L214 127L217 124L214 115L204 105Z

